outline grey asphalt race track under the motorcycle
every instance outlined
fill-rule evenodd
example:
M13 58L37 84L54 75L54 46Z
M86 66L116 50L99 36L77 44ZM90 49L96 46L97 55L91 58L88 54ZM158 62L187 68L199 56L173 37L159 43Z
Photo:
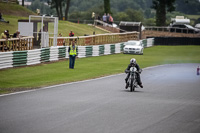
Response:
M143 70L0 96L0 133L199 133L200 64Z

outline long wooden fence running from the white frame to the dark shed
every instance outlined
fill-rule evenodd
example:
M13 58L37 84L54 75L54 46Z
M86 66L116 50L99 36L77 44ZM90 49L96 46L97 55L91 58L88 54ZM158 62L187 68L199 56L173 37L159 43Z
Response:
M112 34L98 34L91 36L80 36L80 37L58 37L57 46L68 46L72 41L76 41L79 46L88 45L101 45L101 44L112 44L126 42L128 40L138 40L138 32L126 32L126 33L112 33ZM53 46L53 37L49 38L49 46Z

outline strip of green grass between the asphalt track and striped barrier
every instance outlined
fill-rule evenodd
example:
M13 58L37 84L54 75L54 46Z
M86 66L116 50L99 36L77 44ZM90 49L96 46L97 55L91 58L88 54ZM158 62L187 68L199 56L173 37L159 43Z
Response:
M76 60L69 69L68 60L37 66L0 70L0 93L92 79L123 73L129 60L136 58L141 68L160 64L200 63L200 46L154 46L144 55L114 54Z

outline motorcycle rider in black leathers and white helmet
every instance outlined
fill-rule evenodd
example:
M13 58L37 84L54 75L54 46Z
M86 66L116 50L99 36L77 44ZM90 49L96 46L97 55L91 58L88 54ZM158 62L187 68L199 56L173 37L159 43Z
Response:
M128 65L128 67L126 68L125 70L125 73L128 73L126 78L125 78L125 82L126 82L126 89L128 88L128 79L129 79L129 76L130 76L130 68L131 67L135 67L137 69L137 71L139 73L137 73L137 81L138 81L138 85L143 88L143 85L142 85L142 82L141 82L141 79L140 79L140 73L142 72L142 69L140 69L139 65L136 63L136 59L135 58L132 58L130 60L130 64Z

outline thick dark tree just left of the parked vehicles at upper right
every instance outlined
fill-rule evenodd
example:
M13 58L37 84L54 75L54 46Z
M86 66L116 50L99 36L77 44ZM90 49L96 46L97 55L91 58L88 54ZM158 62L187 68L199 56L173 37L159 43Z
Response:
M175 10L176 0L153 0L152 8L156 10L156 25L166 25L166 13Z

